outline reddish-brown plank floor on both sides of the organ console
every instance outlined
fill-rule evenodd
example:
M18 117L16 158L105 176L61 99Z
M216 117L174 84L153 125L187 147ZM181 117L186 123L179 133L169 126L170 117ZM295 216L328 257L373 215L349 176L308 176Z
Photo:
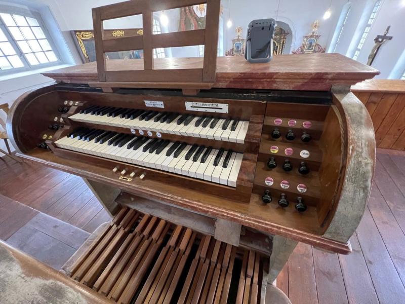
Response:
M61 253L65 259L87 232L109 219L80 178L38 165L0 161L0 194L4 196L0 197L0 238L55 268L61 263L53 259L55 252L65 251ZM15 207L7 210L5 204ZM15 221L13 212L23 215ZM62 227L59 221L53 224L58 226L55 231L50 216L69 225ZM76 233L73 226L82 231L76 238L71 237ZM49 246L57 249L39 254L44 248L24 239L36 240L41 233L66 246L49 240ZM353 252L349 255L300 243L278 276L277 286L293 304L405 302L405 153L378 150L369 204L350 242ZM54 256L48 257L51 253Z

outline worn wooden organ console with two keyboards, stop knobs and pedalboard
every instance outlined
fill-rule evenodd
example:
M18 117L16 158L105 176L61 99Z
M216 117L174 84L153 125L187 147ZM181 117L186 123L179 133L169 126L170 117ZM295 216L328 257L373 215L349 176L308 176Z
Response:
M104 9L93 11L97 52ZM372 122L350 86L377 70L305 54L218 57L199 82L119 74L145 72L146 57L44 73L56 83L21 96L8 117L19 156L82 176L115 216L72 279L119 303L264 303L297 242L350 252L375 162ZM201 60L152 61L184 72Z

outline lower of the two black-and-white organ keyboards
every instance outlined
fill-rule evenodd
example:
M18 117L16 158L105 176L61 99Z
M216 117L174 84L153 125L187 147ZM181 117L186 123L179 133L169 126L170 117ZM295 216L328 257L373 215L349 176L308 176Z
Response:
M132 134L79 128L57 147L236 187L243 154Z

